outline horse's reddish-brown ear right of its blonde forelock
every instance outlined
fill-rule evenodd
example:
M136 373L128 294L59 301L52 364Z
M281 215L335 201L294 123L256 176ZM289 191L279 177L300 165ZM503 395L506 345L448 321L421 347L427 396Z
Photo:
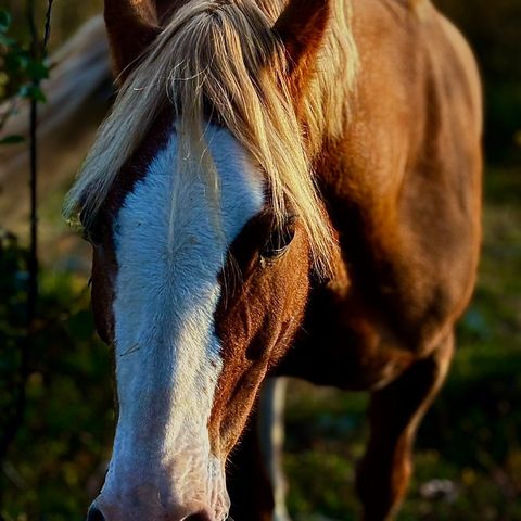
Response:
M329 0L290 0L274 26L285 46L290 72L300 69L315 58L326 35L329 16Z

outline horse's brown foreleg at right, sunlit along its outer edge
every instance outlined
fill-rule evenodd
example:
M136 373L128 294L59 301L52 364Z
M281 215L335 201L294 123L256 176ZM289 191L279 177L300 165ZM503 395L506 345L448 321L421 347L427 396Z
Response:
M357 471L364 521L391 520L399 507L411 473L416 431L444 382L453 350L450 334L429 357L372 393L369 442Z

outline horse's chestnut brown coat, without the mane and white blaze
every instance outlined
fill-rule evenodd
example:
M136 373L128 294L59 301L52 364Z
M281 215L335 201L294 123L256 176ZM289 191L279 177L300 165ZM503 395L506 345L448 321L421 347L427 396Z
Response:
M314 56L327 43L330 3L293 0L276 24L292 59L288 80L303 87L293 89L295 104L305 102ZM225 369L208 429L214 452L226 457L268 373L370 391L371 434L357 488L364 519L381 521L392 519L405 495L416 429L443 383L454 326L474 284L482 102L471 52L429 1L412 2L415 10L409 0L352 3L360 73L351 119L339 114L343 132L313 156L341 253L331 279L317 284L302 223L274 262L260 257L272 232L270 208L246 226L221 276L216 321ZM142 49L110 13L120 72ZM158 130L118 176L105 203L112 213L143 171L136 162L157 150L168 125L167 116L156 122ZM111 250L110 237L104 247ZM106 262L110 253L97 255L93 302L98 323L110 323L106 274L117 267ZM255 481L247 471L240 479ZM236 521L265 516L252 504Z

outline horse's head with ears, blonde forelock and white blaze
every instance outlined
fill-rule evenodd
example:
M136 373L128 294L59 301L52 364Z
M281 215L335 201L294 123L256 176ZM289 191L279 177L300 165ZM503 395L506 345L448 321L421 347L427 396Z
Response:
M327 15L295 0L274 29L253 1L195 0L158 29L106 1L122 91L69 205L118 398L89 519L227 516L227 456L332 249L297 114Z

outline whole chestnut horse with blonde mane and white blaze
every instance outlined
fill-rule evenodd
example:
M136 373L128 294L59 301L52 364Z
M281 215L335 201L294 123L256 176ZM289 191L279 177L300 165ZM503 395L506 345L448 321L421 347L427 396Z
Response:
M275 519L241 435L282 376L370 393L356 490L365 521L393 519L479 260L463 37L429 0L105 0L104 16L119 90L65 203L115 360L88 519Z

